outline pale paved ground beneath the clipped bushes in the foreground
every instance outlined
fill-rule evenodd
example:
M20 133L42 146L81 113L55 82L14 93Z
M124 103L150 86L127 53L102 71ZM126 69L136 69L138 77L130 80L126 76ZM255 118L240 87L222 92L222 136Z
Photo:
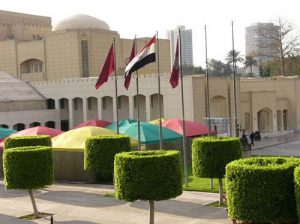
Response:
M125 202L105 196L112 186L97 184L55 184L35 192L40 212L53 213L54 223L64 224L141 224L148 223L148 203ZM205 206L218 200L218 194L184 192L176 199L155 203L156 224L229 224L224 208ZM23 221L32 213L27 192L4 188L0 181L0 223L50 223L49 217Z

